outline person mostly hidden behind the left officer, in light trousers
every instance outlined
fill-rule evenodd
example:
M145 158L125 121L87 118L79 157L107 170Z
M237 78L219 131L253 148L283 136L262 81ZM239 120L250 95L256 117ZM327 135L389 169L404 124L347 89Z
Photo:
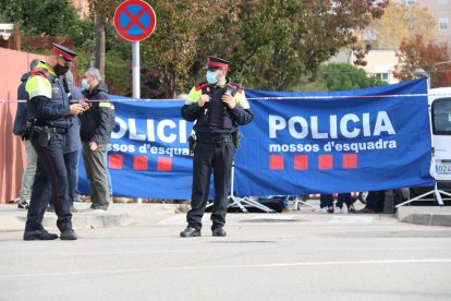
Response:
M17 104L17 111L15 113L14 128L13 128L14 135L23 136L25 132L25 123L28 121L28 108L27 108L28 95L26 94L26 91L25 91L25 84L32 71L36 69L36 65L39 63L39 61L40 61L39 59L34 59L29 63L29 72L24 73L21 77L22 83L17 87L17 99L22 100L22 103ZM17 208L28 209L29 198L32 196L32 186L33 186L33 182L35 180L35 173L36 173L37 155L29 140L22 139L22 143L25 147L26 166L25 166L24 173L22 174L21 195L20 195L20 200L17 203Z

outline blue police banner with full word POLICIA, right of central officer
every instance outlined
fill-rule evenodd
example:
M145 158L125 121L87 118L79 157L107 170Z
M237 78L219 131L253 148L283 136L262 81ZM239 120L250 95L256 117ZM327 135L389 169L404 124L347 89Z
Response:
M255 119L242 128L236 194L432 185L426 93L425 80L337 93L248 91Z

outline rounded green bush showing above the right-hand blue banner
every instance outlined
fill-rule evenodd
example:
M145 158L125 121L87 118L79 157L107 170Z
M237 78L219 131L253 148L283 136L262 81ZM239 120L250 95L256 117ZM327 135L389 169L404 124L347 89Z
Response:
M386 84L379 77L367 76L365 70L348 63L329 63L322 67L320 77L328 91L356 89Z

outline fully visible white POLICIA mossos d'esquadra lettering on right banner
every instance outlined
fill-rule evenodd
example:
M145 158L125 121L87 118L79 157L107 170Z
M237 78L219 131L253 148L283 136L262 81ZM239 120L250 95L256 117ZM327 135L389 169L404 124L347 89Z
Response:
M269 137L277 140L278 134L288 131L293 140L318 140L318 143L275 143L269 145L270 153L317 153L317 152L354 152L397 148L393 124L387 111L369 112L357 116L348 113L339 118L329 116L327 131L319 130L318 116L308 119L293 116L269 116ZM322 121L322 120L321 120ZM381 137L383 136L383 139ZM365 137L356 141L356 137ZM333 141L340 139L340 143ZM327 142L326 142L327 140ZM343 142L350 140L350 142ZM352 141L353 140L353 141Z

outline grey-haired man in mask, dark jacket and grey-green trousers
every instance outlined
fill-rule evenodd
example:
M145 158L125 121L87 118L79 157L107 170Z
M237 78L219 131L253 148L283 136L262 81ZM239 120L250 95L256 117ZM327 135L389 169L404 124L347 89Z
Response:
M83 96L90 106L89 110L80 116L83 159L90 183L90 208L107 210L110 204L110 190L106 155L115 124L114 105L109 101L108 87L102 82L98 69L86 70L82 86Z

